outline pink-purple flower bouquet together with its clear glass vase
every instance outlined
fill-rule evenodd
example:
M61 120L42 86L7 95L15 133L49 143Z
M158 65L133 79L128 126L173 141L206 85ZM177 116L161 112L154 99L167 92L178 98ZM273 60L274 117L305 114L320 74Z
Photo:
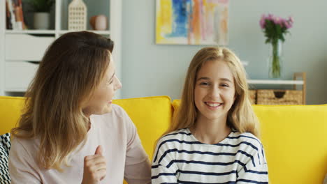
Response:
M293 17L289 17L289 19L286 20L281 17L275 17L271 14L262 15L260 20L260 26L266 36L266 43L270 43L273 46L270 76L273 78L278 78L281 76L281 53L278 43L279 40L284 42L284 35L286 33L289 33L288 30L293 26Z

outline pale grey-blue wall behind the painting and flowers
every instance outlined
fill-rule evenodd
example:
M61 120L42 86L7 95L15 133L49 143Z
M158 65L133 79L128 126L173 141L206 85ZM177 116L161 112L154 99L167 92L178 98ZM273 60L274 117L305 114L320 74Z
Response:
M228 47L249 61L252 79L268 79L268 45L259 27L263 13L293 15L284 43L285 79L307 72L307 103L327 103L327 1L230 1ZM155 0L123 0L122 98L180 98L185 72L202 46L155 45Z

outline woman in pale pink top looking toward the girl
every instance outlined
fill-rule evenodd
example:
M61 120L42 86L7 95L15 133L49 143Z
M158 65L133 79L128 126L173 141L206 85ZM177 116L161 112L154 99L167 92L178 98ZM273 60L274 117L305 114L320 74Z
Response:
M136 127L112 105L122 87L113 42L87 31L50 45L12 130L13 183L150 183Z

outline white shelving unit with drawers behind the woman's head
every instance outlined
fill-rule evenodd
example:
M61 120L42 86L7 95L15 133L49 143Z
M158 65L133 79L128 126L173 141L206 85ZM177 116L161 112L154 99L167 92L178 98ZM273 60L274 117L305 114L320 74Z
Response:
M67 10L71 0L56 0L54 29L52 30L6 30L6 0L0 0L0 95L24 92L33 79L38 62L45 49L67 30ZM89 6L101 6L101 1L90 1ZM116 64L117 77L121 78L122 67L122 1L103 0L108 8L105 13L96 15L108 16L109 29L92 31L111 38L115 42L112 57ZM99 9L98 7L93 9ZM89 13L89 12L88 12ZM115 98L120 98L117 91Z

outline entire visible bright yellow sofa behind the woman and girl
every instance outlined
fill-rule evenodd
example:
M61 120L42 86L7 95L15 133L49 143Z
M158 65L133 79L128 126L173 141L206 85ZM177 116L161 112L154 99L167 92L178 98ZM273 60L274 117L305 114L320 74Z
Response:
M138 128L152 158L154 142L168 128L180 101L168 96L114 100ZM24 98L0 97L0 135L20 117ZM270 183L321 184L327 173L327 105L254 105L261 121Z

